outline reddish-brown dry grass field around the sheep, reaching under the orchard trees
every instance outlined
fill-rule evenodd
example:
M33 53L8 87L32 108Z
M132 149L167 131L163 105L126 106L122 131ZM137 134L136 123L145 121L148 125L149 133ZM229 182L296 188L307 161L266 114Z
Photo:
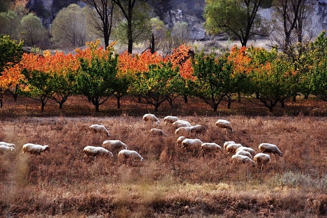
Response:
M0 217L4 218L323 218L327 216L326 103L300 99L277 107L273 114L246 101L222 104L217 114L196 99L176 100L156 115L167 136L150 136L151 125L142 115L153 111L114 99L93 112L82 97L74 97L60 111L48 103L41 113L37 103L10 98L0 109L0 141L16 144L16 152L0 154ZM233 140L258 152L258 145L278 145L283 157L272 156L258 166L232 165L222 151L205 157L176 147L165 115L177 115L191 124L208 127L203 142L223 145ZM215 121L231 121L227 133ZM91 124L110 132L88 132ZM83 159L87 145L101 146L107 139L125 142L145 162L121 162L115 157ZM25 143L49 145L39 156L21 154Z

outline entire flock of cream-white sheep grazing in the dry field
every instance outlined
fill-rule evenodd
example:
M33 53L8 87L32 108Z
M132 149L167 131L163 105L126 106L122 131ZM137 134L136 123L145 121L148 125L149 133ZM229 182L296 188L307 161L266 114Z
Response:
M186 157L191 155L193 157L207 158L209 154L212 154L217 158L229 157L233 165L257 165L261 170L264 169L266 164L270 163L271 154L275 155L276 161L277 156L283 157L283 153L279 150L279 148L270 143L261 143L259 144L258 149L254 149L253 147L250 148L240 143L236 143L235 141L237 140L219 142L218 144L217 142L213 141L200 140L197 137L201 138L201 136L206 134L208 127L201 124L192 125L190 122L179 119L176 116L164 117L163 127L168 128L165 131L159 128L160 119L154 114L147 113L143 116L142 120L148 127L149 125L151 127L156 125L156 128L151 128L150 131L143 128L144 131L149 131L149 139L152 137L153 140L161 140L160 138L156 138L156 136L177 137L176 148ZM215 125L218 128L214 127L214 129L211 129L211 131L220 131L219 128L227 129L228 131L226 131L226 134L231 138L233 137L233 132L235 129L232 127L231 122L224 119L218 119ZM169 128L172 129L172 131L169 131ZM144 162L146 160L138 153L138 151L133 150L133 142L129 142L127 143L129 145L127 145L125 142L114 139L105 126L92 124L88 127L88 129L89 134L92 132L98 134L100 137L104 137L102 134L105 133L107 137L111 137L112 139L104 140L100 145L86 145L82 150L84 159L93 157L95 160L95 157L101 156L104 158L113 158L113 160L129 159L140 162ZM55 147L55 145L52 147ZM258 153L255 150L257 150ZM0 142L0 154L9 154L15 151L15 144ZM22 154L41 155L46 151L50 152L50 147L48 145L26 143L21 147L21 151ZM56 152L55 149L54 152Z

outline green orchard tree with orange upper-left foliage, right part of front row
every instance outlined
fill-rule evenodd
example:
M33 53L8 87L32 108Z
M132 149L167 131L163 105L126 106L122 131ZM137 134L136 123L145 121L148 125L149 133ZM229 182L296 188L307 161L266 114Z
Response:
M279 102L284 108L284 102L294 95L297 71L285 55L278 54L276 49L266 51L251 47L248 53L252 57L252 70L247 90L261 104L249 101L267 107L270 112Z

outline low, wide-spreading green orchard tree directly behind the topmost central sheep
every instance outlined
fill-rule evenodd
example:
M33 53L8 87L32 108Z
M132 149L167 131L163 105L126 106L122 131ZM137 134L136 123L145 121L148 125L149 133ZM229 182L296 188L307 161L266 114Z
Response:
M184 87L184 81L170 62L149 65L148 72L136 73L130 92L140 97L141 104L148 104L158 111L168 98L173 98Z

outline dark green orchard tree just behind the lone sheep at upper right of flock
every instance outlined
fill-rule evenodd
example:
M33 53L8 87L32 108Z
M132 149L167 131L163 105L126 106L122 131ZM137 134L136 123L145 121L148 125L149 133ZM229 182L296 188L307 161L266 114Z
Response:
M232 64L228 62L227 54L217 58L213 53L195 54L192 66L194 80L188 83L190 92L217 112L220 102L230 91L229 84L233 69Z

